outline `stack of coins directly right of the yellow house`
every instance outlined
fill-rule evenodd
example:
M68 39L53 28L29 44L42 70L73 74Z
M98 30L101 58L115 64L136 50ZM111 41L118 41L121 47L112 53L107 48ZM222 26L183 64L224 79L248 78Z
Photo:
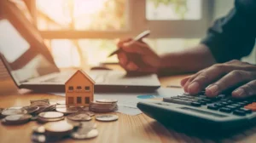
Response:
M89 109L91 112L114 112L118 110L118 100L102 99L90 102Z

